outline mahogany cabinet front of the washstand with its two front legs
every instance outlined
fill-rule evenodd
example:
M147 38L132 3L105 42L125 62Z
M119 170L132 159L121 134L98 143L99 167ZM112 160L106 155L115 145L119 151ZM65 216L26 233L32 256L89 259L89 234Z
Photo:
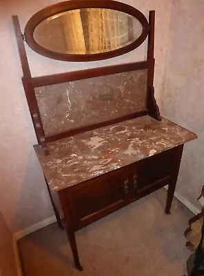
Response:
M166 185L168 190L165 212L170 213L182 151L183 145L177 146L59 191L76 268L82 268L74 236L76 230Z

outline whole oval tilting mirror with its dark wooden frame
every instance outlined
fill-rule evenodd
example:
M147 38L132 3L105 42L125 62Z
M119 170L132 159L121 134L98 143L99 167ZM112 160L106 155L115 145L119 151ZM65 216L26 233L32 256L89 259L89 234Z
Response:
M147 37L148 23L139 10L115 1L87 3L85 8L84 1L63 2L35 14L26 25L28 45L53 59L91 61L122 55Z

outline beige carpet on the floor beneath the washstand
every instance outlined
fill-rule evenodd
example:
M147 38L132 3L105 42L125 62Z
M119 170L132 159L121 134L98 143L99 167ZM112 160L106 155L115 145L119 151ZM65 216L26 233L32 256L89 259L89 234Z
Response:
M163 188L76 232L83 272L57 224L24 237L24 275L183 276L190 255L183 232L192 213L174 199L172 215L165 215L165 197Z

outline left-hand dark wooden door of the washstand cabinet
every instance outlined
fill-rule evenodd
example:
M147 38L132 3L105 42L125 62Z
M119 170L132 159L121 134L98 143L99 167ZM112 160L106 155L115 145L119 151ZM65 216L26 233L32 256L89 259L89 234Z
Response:
M124 206L129 188L126 167L73 186L70 201L76 226L81 228Z

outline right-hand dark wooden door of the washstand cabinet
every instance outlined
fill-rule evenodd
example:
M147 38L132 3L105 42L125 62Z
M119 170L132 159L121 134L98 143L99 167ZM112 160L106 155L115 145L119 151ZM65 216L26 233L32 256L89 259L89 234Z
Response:
M132 170L133 196L140 197L139 194L143 194L145 190L149 189L152 192L167 185L171 175L171 164L171 150L139 161L135 165L136 170L134 168Z

